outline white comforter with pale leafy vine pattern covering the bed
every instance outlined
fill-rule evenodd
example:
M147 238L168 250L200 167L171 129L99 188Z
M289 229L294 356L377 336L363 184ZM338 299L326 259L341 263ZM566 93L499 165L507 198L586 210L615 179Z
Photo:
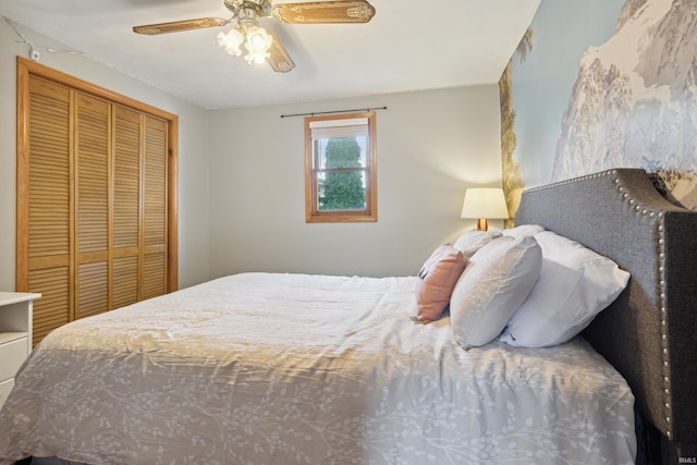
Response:
M629 464L634 397L584 341L464 351L417 278L246 273L53 331L0 463Z

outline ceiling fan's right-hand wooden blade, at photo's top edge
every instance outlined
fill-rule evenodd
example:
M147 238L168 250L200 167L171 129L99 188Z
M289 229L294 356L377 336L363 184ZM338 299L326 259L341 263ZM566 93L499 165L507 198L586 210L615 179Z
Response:
M375 8L365 0L310 1L273 5L270 15L288 24L367 23Z

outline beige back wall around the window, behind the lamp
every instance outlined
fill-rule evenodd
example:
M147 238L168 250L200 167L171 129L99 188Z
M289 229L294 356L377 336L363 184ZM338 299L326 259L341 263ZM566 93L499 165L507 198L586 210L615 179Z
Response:
M307 224L304 120L377 111L378 222ZM210 113L210 274L414 274L474 223L465 188L500 186L498 86L379 95Z

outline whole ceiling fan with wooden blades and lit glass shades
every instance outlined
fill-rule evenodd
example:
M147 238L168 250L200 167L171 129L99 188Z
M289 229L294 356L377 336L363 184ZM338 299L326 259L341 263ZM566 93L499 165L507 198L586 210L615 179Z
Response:
M339 24L367 23L375 15L375 8L366 0L310 1L301 3L272 4L272 0L223 0L232 12L232 17L200 17L197 20L174 21L171 23L135 26L134 33L158 35L181 30L203 29L225 26L236 22L236 27L228 34L218 34L218 44L230 54L240 57L240 47L247 49L248 63L269 62L273 71L288 73L295 63L285 51L278 37L259 26L259 17L272 17L286 24Z

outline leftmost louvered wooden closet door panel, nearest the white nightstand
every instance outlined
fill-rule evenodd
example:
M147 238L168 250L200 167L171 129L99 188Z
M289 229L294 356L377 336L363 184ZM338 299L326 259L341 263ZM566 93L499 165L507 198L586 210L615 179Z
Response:
M71 319L70 90L34 78L28 106L28 291L34 338Z

